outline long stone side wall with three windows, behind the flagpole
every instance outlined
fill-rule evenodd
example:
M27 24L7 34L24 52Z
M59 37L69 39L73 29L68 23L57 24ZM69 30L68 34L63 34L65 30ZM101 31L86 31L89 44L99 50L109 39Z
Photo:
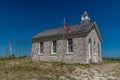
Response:
M37 61L63 61L86 63L85 38L73 38L73 52L67 53L67 39L57 40L57 53L51 54L52 41L43 42L43 53L39 53L39 41L32 43L32 59Z

